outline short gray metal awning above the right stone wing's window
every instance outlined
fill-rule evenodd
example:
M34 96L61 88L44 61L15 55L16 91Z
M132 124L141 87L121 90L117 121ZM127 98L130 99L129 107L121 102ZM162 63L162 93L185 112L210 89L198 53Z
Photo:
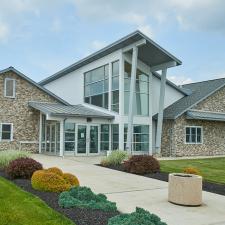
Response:
M225 113L207 112L200 110L188 110L187 119L209 120L209 121L225 121Z

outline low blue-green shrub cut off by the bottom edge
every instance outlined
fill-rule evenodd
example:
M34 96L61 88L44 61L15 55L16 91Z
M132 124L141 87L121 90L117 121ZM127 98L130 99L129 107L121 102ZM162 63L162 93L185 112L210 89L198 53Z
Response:
M136 212L115 216L108 221L108 225L167 225L155 214L136 208Z

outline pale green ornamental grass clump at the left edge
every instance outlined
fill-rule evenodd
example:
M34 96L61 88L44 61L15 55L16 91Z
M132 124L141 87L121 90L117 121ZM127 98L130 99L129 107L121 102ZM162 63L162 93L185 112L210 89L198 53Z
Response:
M30 153L18 150L5 150L0 151L0 168L6 168L9 163L15 159L29 157Z

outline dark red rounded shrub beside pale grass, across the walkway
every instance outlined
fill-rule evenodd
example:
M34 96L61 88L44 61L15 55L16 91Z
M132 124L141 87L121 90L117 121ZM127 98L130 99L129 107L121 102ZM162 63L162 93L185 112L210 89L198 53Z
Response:
M125 171L135 174L156 173L160 169L158 160L149 155L133 155L123 166Z

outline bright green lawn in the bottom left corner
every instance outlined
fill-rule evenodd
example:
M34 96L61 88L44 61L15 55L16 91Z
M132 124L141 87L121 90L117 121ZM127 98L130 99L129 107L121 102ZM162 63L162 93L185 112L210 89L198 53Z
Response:
M0 177L1 225L74 225L42 200Z

